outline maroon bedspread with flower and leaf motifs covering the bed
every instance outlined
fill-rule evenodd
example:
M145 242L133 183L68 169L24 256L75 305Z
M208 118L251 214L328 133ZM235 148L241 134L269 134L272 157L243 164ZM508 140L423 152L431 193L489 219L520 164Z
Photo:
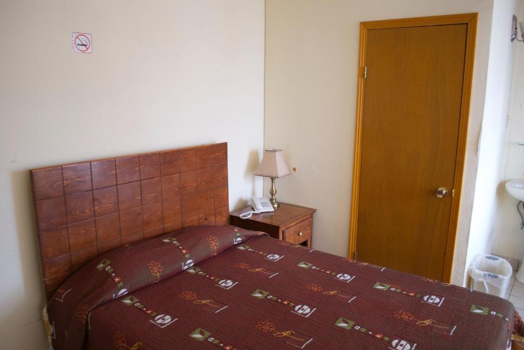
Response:
M258 235L199 227L99 257L48 304L54 348L509 344L514 308L504 299Z

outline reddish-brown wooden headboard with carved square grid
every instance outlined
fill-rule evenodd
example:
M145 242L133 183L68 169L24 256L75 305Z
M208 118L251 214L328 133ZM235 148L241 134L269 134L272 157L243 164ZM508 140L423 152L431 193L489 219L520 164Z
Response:
M228 223L227 143L30 170L48 298L97 255Z

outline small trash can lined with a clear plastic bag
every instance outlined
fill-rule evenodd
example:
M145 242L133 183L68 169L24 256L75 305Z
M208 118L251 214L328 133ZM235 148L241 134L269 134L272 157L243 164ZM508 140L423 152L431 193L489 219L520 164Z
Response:
M471 287L504 298L512 272L511 265L501 257L484 254L475 255L469 268L472 278Z

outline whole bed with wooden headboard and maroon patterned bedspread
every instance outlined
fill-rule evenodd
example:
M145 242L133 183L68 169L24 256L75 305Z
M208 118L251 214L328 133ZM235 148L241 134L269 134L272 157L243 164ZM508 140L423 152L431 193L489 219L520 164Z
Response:
M508 301L228 225L227 144L31 171L55 349L506 349Z

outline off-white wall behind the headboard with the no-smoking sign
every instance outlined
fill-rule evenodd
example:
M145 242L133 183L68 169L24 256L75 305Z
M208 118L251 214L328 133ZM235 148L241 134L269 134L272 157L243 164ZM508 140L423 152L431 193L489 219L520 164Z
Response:
M261 194L264 1L0 0L0 54L0 338L44 349L28 170L227 141L231 208Z

